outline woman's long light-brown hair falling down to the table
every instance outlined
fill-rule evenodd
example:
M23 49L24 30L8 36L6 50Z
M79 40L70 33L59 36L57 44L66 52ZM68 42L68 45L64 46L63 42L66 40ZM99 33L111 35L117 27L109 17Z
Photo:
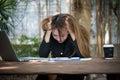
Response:
M62 18L64 18L64 23L63 21L61 22L62 24L65 25L65 20L68 18L68 23L70 29L73 31L75 34L75 38L77 41L78 48L81 52L81 54L84 57L90 57L90 51L89 51L89 33L85 27L79 24L79 22L70 14L57 14L55 16L61 15ZM55 16L48 17L42 21L42 29L44 31L47 31L47 26L46 24L49 22L50 18L54 18Z

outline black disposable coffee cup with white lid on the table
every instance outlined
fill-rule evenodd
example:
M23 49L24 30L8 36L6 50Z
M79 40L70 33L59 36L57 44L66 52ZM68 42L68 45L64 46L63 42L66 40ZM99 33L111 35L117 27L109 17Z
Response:
M105 58L113 58L114 57L114 45L113 44L103 45L103 51L104 51Z

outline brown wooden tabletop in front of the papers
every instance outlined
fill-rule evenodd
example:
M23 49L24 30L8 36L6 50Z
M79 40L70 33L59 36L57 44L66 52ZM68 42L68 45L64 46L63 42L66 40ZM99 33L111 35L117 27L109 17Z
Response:
M70 62L0 62L0 74L97 74L119 73L120 60L93 58Z

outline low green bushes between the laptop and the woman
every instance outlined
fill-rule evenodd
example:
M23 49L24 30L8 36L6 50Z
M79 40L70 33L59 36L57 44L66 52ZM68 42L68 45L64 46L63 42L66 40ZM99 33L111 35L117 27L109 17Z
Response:
M13 41L13 40L12 40ZM39 56L39 46L41 40L38 38L29 38L22 35L18 39L19 44L14 43L13 47L17 53L18 57L38 57Z

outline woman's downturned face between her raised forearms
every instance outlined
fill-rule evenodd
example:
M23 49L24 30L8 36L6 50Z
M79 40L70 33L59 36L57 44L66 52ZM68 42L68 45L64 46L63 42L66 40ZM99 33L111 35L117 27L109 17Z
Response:
M58 43L63 43L68 37L68 31L66 28L62 28L60 31L58 29L53 29L52 36Z

